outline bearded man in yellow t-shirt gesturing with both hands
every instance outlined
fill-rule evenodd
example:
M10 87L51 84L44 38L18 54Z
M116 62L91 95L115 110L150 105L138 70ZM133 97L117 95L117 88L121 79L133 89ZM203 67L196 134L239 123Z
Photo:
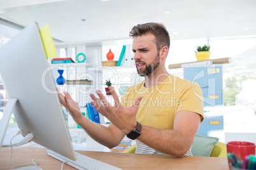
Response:
M194 137L203 121L203 97L196 83L169 75L165 68L169 34L160 23L145 23L132 28L132 50L138 74L145 81L131 86L118 100L110 87L115 105L101 91L90 95L92 105L111 121L105 127L83 117L68 93L60 101L73 119L97 142L116 147L125 134L136 139L138 154L192 155Z

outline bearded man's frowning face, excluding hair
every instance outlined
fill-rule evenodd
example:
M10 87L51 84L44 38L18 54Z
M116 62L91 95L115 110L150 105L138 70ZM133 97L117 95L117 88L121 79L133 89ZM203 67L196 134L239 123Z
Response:
M147 76L157 69L160 56L153 34L134 37L132 50L134 51L134 60L139 75Z

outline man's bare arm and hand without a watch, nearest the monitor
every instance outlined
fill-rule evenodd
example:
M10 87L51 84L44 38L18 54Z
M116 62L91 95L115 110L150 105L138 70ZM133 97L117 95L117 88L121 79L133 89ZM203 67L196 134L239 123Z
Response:
M116 147L120 141L122 141L125 134L115 125L110 124L110 126L106 127L90 121L87 117L82 115L80 108L68 93L64 92L65 96L63 96L58 91L58 94L60 103L64 105L74 121L85 129L91 138L108 148Z

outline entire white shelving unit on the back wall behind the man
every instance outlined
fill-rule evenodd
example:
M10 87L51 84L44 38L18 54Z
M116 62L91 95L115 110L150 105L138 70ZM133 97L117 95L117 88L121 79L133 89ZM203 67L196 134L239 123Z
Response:
M104 85L106 79L111 80L112 86L116 89L118 94L118 88L120 88L120 86L131 86L139 81L143 81L143 77L139 77L135 65L132 65L131 62L127 62L126 65L129 66L102 67L101 62L104 60L106 61L106 53L108 53L109 49L111 49L111 51L113 51L115 54L114 60L118 60L122 46L127 43L131 43L131 39L124 41L102 42L60 42L55 44L58 57L71 57L76 62L76 55L83 53L86 56L86 60L85 63L51 65L52 68L55 67L55 71L53 71L54 79L57 79L59 76L56 69L58 67L57 65L59 65L59 68L64 69L63 75L66 80L88 79L92 81L91 85L64 84L64 86L59 86L59 88L71 93L71 96L78 103L78 105L85 106L86 103L91 101L89 95L91 93L96 95L97 89L100 89L103 94L106 95L104 90L106 87ZM127 46L129 46L127 50L132 51L131 44ZM125 54L128 54L129 56L124 57L133 58L131 51L125 51ZM108 99L109 98L110 97L108 96Z

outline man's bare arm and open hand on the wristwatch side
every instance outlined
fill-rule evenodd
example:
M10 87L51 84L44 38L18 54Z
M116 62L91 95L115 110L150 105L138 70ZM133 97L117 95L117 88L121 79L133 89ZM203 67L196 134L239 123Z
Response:
M90 96L94 103L91 103L101 114L115 124L118 129L128 134L136 128L135 117L143 96L139 96L134 101L132 107L123 107L120 105L117 93L113 90L113 87L110 87L110 91L115 100L114 106L108 103L101 91L96 91L96 93L103 103L92 94ZM183 157L192 145L200 122L201 116L199 114L190 111L180 111L175 115L173 130L142 126L141 135L137 139L160 152Z

